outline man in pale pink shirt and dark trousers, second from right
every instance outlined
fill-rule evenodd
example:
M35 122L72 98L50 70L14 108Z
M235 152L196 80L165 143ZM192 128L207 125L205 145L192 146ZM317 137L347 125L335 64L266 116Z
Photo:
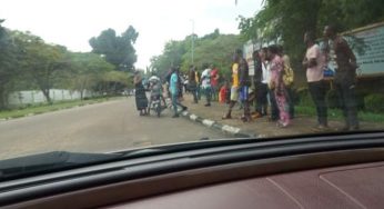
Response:
M312 32L305 32L304 43L306 44L306 53L303 60L303 66L306 69L309 90L313 102L316 106L316 128L323 130L327 128L327 108L325 102L326 83L323 80L325 59L319 44L315 43L315 37Z

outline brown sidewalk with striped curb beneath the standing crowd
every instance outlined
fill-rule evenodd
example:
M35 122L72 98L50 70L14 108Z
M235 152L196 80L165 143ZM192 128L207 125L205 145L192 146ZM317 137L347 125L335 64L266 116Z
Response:
M205 98L202 97L199 103L193 103L192 96L185 94L183 104L188 106L188 111L183 116L189 120L202 123L212 129L220 129L223 132L231 133L235 137L282 137L282 136L297 136L297 135L313 135L322 132L337 132L344 123L341 121L329 121L329 129L315 129L316 118L307 116L295 116L292 123L286 128L276 127L276 122L270 121L267 117L253 119L251 122L243 122L240 120L243 110L235 106L232 111L230 120L223 120L222 117L228 112L229 106L225 103L211 102L211 107L204 107ZM254 108L251 108L254 111ZM361 122L362 130L383 130L384 125Z

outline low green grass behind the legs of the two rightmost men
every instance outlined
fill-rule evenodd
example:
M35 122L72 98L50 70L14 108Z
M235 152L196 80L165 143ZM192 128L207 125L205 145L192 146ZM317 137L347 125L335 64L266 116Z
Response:
M316 117L314 107L295 106L295 112L302 116ZM329 109L329 118L333 120L343 120L343 113L338 109ZM366 122L384 123L384 113L358 111L358 119Z

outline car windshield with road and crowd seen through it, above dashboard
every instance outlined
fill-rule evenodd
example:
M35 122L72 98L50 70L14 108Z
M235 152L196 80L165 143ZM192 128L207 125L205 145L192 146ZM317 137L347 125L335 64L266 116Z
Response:
M383 130L383 80L384 1L3 0L0 168Z

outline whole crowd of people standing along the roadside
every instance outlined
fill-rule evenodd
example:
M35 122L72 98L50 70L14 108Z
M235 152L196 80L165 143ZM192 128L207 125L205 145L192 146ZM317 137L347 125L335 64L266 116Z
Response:
M306 71L309 92L314 101L317 113L317 129L327 128L326 82L324 71L332 68L335 71L334 87L338 93L340 107L345 118L345 130L358 129L357 108L355 100L356 58L350 46L337 36L332 26L324 28L323 43L315 41L313 32L304 34L306 53L303 54L303 68ZM178 107L186 110L181 103L183 87L199 103L205 97L204 107L211 107L212 101L228 103L229 109L222 119L232 119L236 103L243 109L241 120L250 122L254 118L269 116L279 127L285 128L294 118L293 82L294 71L290 57L281 46L272 44L253 52L254 76L249 73L249 64L243 58L242 50L235 50L231 67L231 78L220 76L213 64L204 64L202 72L195 66L190 66L186 78L180 74L180 68L170 70L165 77L168 86L164 91L172 100L174 115L179 117ZM185 81L184 81L185 80ZM144 87L135 76L137 106L141 116L148 115L148 100ZM252 106L254 104L254 106ZM254 111L251 112L251 107Z

